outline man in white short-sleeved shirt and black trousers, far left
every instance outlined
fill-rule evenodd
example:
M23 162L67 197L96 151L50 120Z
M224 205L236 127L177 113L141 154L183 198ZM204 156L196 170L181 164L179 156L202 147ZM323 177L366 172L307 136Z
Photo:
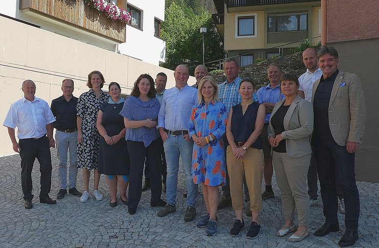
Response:
M13 150L21 157L21 185L25 209L33 208L32 169L35 158L38 159L41 172L39 202L56 203L56 200L49 197L52 170L50 147L55 147L53 138L55 118L47 102L34 96L35 89L32 80L23 82L24 97L11 105L3 123L8 128ZM18 142L14 131L16 127Z

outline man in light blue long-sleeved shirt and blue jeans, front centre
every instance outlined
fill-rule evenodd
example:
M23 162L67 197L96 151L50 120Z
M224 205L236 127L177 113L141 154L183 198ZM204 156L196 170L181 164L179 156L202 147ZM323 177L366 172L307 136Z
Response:
M158 115L158 130L163 140L167 163L166 197L167 205L158 211L159 217L176 211L175 200L178 184L179 156L182 158L187 184L187 210L184 221L196 216L197 186L191 178L193 141L188 135L188 121L192 107L197 103L197 90L188 86L188 68L179 65L174 72L175 87L163 94Z

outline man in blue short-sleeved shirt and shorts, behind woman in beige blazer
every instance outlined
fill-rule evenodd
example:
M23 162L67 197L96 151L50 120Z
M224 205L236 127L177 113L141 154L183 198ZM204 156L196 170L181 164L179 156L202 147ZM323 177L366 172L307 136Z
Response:
M270 120L270 115L273 106L283 99L283 94L280 92L280 78L282 76L282 70L277 64L270 64L267 67L267 75L270 83L258 90L257 96L260 104L266 107L266 116L264 118L264 126L261 133L263 142L263 154L264 154L264 167L263 167L263 177L266 184L266 190L262 194L262 200L274 197L272 191L272 157L271 157L271 146L267 139L267 127L268 121Z

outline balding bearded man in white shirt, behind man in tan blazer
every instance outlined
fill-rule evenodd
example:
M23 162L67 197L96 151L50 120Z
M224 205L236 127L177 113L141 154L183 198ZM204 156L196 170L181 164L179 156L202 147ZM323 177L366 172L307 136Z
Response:
M319 80L323 74L317 64L317 51L314 48L305 49L303 52L303 62L307 71L299 77L299 95L310 102L312 99L313 82ZM312 153L308 169L308 195L311 206L319 205L317 191L317 164Z

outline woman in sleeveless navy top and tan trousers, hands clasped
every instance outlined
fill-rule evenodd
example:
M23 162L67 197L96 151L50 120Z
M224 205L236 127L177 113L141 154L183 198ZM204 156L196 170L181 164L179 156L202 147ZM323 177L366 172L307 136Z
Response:
M231 204L237 220L230 230L230 236L240 235L245 226L243 221L243 180L250 196L252 222L246 238L257 238L261 232L259 212L262 211L261 184L263 176L263 150L261 132L265 107L252 99L255 85L249 78L241 81L239 93L242 102L230 108L226 125L229 146L226 149L226 163L230 180Z

